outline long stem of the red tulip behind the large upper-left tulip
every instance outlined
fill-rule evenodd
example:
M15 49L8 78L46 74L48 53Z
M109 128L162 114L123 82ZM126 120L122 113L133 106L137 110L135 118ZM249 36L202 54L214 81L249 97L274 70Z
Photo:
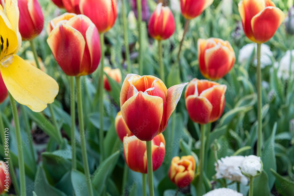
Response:
M101 45L101 69L99 75L99 103L100 103L100 129L99 129L99 150L100 150L100 163L103 161L103 67L104 67L104 33L100 33L100 45Z

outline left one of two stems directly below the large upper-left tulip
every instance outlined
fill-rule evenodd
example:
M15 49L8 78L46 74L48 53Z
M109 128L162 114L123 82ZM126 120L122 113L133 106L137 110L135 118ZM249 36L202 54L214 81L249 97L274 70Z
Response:
M70 84L70 100L71 100L71 167L72 169L76 169L76 139L74 135L74 128L76 125L76 110L75 110L75 91L74 91L74 76L70 76L69 78L69 84Z

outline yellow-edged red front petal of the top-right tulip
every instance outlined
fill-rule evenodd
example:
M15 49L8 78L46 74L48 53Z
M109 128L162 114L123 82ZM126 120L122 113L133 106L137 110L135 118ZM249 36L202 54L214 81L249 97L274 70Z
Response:
M251 27L256 43L265 43L273 37L285 19L285 14L277 7L269 6L256 14Z

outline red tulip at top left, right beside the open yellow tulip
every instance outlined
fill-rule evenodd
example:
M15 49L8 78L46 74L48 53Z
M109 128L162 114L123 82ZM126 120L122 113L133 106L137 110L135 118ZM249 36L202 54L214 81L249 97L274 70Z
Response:
M37 0L18 0L19 33L23 40L32 40L43 30L44 16Z

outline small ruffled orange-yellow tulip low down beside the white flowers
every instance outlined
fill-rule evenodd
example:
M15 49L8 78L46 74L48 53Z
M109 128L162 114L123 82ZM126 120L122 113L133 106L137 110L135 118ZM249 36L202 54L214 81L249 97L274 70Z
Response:
M171 160L168 178L178 187L188 186L194 179L196 162L193 156L176 156Z

